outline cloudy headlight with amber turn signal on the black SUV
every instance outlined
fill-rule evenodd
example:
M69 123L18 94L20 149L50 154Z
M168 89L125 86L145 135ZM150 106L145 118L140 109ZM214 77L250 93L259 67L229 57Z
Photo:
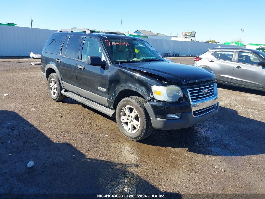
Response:
M155 99L166 102L176 102L183 96L180 87L175 85L170 86L152 86L153 96Z

